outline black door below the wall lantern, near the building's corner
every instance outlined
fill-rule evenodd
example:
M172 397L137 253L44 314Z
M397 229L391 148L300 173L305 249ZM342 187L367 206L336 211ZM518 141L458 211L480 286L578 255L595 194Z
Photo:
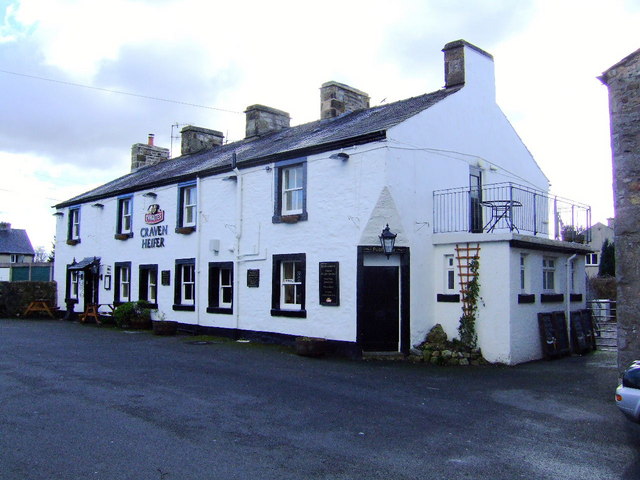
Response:
M398 267L362 267L358 343L368 352L397 352L400 339Z

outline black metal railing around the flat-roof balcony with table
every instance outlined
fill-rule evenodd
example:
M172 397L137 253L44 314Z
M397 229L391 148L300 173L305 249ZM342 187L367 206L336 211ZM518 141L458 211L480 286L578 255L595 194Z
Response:
M433 233L519 232L590 241L591 207L515 183L433 192Z

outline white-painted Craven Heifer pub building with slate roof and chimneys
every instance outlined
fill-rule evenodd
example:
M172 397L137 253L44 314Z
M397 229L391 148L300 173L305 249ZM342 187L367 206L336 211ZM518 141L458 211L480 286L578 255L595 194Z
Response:
M138 157L129 175L57 205L59 304L78 312L156 292L155 315L201 331L406 353L436 323L457 336L460 278L456 266L449 288L447 261L473 244L485 358L541 358L537 313L584 308L588 249L549 238L549 182L495 103L493 58L457 41L445 65L444 89L373 108L329 82L311 124L254 105L245 140L196 129L202 150L183 139L188 153ZM491 229L491 207L469 206L472 178L482 201L529 192L511 224ZM397 234L388 258L387 224Z

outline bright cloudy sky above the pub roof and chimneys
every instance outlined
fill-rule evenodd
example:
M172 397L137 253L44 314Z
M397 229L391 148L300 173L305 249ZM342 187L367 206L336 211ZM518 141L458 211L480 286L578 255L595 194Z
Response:
M494 56L498 104L553 193L604 223L596 77L640 47L639 25L640 0L0 0L0 220L48 250L51 205L128 173L148 133L165 147L187 124L240 140L255 103L316 120L328 80L372 105L431 92L442 47L462 38Z

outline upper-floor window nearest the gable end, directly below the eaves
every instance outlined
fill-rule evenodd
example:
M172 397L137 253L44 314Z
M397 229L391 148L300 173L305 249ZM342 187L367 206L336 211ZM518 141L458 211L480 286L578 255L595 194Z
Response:
M273 222L307 220L307 162L287 160L275 168Z

